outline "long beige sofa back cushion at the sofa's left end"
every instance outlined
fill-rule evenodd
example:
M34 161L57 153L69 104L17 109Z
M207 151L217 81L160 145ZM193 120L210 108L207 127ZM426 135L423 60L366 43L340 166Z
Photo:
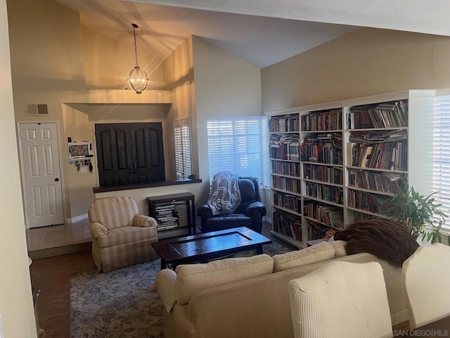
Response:
M175 269L176 299L179 304L187 304L194 294L202 290L269 275L273 268L274 260L265 253L248 258L225 258L204 264L178 265Z

